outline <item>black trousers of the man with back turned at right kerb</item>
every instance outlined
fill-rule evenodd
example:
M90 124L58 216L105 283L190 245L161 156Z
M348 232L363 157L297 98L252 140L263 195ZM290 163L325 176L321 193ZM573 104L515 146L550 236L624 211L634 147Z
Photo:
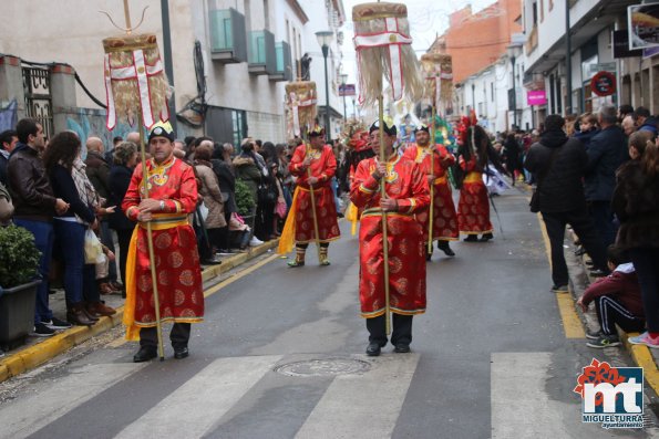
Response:
M567 264L563 254L563 240L565 239L565 226L570 224L575 233L579 237L581 245L586 249L595 268L608 272L606 264L606 248L601 242L599 233L593 224L588 215L586 205L583 208L567 212L542 212L543 220L549 236L552 247L552 280L557 286L567 285L569 276Z

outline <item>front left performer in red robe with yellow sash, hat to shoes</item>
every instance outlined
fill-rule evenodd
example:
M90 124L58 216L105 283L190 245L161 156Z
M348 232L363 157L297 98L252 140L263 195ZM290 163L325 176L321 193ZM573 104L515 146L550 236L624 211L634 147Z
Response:
M140 338L135 363L156 357L157 333L146 222L151 221L156 264L159 315L174 322L169 338L176 358L188 355L191 323L204 318L204 292L197 240L187 216L195 211L197 182L192 166L174 157L174 133L168 123L148 135L153 158L146 161L148 198L143 198L142 167L137 165L122 203L126 217L138 221L126 261L126 338Z

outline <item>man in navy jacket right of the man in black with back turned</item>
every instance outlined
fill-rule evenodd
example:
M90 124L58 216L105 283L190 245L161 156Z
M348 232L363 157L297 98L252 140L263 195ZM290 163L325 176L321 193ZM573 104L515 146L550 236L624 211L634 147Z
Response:
M616 240L611 212L616 169L622 165L626 157L629 157L627 138L622 129L616 125L617 119L615 106L604 105L601 107L599 112L601 130L593 137L588 146L588 165L584 182L590 216L605 248Z

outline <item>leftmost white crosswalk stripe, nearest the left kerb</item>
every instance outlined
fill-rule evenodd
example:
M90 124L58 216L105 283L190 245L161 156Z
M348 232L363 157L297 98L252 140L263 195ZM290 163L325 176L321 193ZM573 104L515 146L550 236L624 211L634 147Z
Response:
M123 353L117 355L124 355ZM94 398L147 363L89 364L51 380L43 391L17 399L0 410L0 438L24 438ZM82 435L82 431L79 431Z

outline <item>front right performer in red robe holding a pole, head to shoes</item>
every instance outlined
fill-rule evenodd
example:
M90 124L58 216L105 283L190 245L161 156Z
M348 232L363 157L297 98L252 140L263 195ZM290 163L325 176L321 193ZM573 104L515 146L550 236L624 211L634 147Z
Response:
M369 129L373 150L380 148L379 123ZM413 160L393 149L397 129L384 124L388 163L368 158L359 163L350 188L350 199L362 210L359 231L361 315L367 318L367 354L380 355L388 342L384 313L384 258L382 211L387 211L389 242L390 309L393 313L391 343L395 352L410 352L412 317L425 312L425 243L421 223L414 215L428 209L428 179ZM380 192L385 180L387 197Z

